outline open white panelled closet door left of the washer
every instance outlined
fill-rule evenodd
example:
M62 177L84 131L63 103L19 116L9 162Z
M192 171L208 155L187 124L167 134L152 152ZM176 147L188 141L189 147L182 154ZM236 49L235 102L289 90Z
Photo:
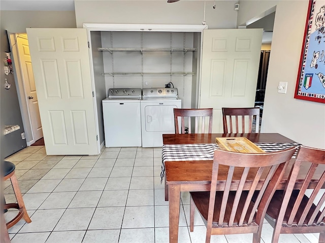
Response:
M47 154L99 154L86 29L27 28Z

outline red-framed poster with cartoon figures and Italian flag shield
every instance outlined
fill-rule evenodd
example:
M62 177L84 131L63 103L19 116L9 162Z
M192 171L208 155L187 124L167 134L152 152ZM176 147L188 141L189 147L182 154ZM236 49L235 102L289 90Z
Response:
M309 1L295 98L325 103L324 1Z

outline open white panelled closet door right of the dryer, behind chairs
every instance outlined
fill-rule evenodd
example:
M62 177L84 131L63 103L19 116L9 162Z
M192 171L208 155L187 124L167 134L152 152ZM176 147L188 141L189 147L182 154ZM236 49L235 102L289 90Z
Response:
M203 31L200 108L213 108L222 133L222 107L254 107L263 29Z

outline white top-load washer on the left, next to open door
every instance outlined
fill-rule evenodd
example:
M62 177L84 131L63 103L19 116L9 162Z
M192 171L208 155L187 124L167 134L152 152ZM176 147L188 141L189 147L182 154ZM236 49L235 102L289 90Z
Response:
M141 147L141 89L109 89L103 103L106 147Z

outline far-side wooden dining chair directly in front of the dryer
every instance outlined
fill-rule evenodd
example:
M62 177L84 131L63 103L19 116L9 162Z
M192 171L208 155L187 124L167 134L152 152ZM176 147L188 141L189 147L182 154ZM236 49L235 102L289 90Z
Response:
M212 115L212 108L174 108L175 133L185 133L185 126L188 128L187 133L212 133Z

